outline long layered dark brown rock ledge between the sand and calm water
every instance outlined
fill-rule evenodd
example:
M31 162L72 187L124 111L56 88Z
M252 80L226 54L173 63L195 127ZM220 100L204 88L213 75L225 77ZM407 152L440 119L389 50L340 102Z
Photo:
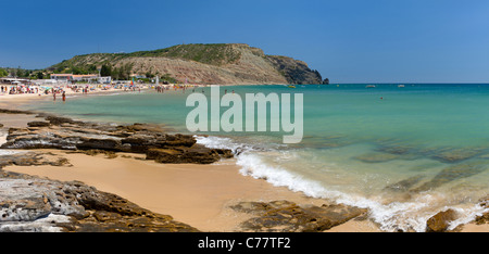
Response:
M28 123L27 128L10 128L1 148L141 153L159 163L210 164L233 157L229 150L205 148L193 136L170 135L158 125L93 124L52 115L45 119Z

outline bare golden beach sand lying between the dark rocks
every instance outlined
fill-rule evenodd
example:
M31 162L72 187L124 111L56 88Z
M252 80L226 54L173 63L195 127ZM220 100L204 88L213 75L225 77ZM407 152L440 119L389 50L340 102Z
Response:
M30 97L11 96L11 98L9 102L0 100L0 107L18 110L22 103L33 102ZM50 98L40 97L39 99ZM25 118L11 117L10 120L5 120L0 116L0 123L5 122L4 128L20 128L34 118L35 116L30 115ZM308 198L284 187L274 187L263 179L243 176L233 158L210 165L158 164L134 158L134 154L118 154L116 158L98 155L88 160L88 155L85 154L67 154L59 150L45 152L64 156L73 166L8 166L3 169L63 181L79 180L102 191L118 194L155 213L170 214L175 219L202 231L243 230L239 228L239 225L251 215L229 208L243 201L287 200L300 205L328 205L326 200ZM133 156L133 158L122 155ZM101 174L104 177L100 177ZM146 188L152 189L145 191ZM325 231L378 232L380 230L368 219L350 219ZM462 231L489 231L489 227L487 224L478 226L471 223L467 227L463 227Z

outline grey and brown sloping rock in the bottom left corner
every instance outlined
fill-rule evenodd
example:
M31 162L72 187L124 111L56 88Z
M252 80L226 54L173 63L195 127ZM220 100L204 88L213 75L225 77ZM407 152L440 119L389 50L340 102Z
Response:
M54 181L0 170L0 232L198 231L78 181Z

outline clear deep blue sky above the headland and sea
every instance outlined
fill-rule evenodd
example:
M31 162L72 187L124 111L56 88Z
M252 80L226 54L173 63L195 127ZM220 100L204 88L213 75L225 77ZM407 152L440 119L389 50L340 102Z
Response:
M331 82L489 82L488 0L0 2L0 66L242 42Z

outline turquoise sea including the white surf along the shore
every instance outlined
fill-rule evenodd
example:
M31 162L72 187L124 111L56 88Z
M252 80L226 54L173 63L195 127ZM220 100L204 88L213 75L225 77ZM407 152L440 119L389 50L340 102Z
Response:
M454 228L485 212L478 202L489 194L489 85L404 85L221 87L221 97L234 91L243 103L244 93L302 93L303 139L284 144L284 131L215 131L198 140L233 149L246 176L367 207L383 230L424 231L430 216L448 208L460 215ZM80 94L66 103L27 107L88 120L164 124L188 132L191 92ZM193 92L211 98L209 87Z

